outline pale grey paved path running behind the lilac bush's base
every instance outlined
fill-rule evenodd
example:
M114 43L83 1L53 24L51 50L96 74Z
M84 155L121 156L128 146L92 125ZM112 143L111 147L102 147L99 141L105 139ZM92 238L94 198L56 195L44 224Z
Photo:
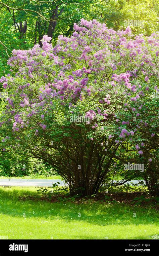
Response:
M59 186L64 186L65 184L62 180L42 180L42 179L14 179L11 178L9 179L0 179L0 186L20 186L20 187L28 187L28 186L34 186L34 187L52 187L53 183L60 182ZM114 181L116 182L116 181ZM126 183L133 183L133 184L138 184L140 180L131 180L127 181ZM125 184L126 184L125 183Z

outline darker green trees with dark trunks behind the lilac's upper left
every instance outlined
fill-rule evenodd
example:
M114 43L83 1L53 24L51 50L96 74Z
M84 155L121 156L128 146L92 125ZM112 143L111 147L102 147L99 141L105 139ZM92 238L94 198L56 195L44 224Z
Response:
M13 49L42 46L46 34L56 42L59 34L70 35L73 23L79 22L89 11L90 0L70 1L3 1L0 2L0 41L11 54ZM0 44L0 74L9 71L6 48Z

